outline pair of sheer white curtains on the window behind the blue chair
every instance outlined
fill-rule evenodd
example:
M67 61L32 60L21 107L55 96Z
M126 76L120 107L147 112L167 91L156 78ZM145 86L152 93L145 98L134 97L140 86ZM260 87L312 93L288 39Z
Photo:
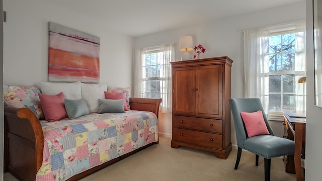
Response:
M254 28L244 31L245 98L259 98L268 112L269 106L269 36L276 28L295 27L295 80L306 76L305 21L275 27ZM305 84L295 84L296 110L305 111Z

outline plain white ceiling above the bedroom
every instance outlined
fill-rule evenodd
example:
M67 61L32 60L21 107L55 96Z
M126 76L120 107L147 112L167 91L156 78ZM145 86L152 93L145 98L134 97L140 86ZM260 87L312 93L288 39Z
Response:
M69 11L132 37L301 1L305 0L55 0Z

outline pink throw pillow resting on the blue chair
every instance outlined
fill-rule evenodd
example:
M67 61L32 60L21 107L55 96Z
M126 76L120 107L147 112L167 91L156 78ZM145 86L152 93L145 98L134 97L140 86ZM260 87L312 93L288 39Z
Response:
M261 110L254 113L240 112L240 116L245 123L248 137L270 134Z

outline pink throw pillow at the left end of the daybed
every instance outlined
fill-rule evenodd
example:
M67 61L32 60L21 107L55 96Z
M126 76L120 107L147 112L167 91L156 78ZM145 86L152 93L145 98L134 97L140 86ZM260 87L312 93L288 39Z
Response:
M61 92L58 95L38 94L42 111L46 121L59 121L68 118L65 110L65 96Z

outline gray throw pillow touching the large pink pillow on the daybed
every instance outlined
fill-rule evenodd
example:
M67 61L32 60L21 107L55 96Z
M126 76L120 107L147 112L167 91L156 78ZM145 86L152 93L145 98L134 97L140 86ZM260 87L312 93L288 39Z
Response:
M75 119L90 114L89 108L84 99L67 100L65 99L65 109L69 119Z

